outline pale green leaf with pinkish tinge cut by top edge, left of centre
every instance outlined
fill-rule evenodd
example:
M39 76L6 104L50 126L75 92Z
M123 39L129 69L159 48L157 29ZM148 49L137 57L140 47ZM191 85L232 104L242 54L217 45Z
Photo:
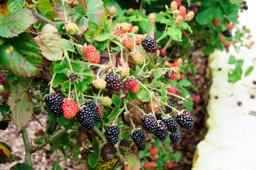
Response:
M101 17L103 15L103 12L105 10L103 6L102 0L90 0L89 3L87 3L88 10L86 13L86 16L88 16L90 21L95 22L98 26L102 26Z

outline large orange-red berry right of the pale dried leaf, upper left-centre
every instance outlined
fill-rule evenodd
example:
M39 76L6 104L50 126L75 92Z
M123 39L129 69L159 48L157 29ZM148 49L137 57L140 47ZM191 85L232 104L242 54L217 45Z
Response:
M84 57L91 63L98 64L99 60L101 59L99 52L93 45L87 45L83 49Z

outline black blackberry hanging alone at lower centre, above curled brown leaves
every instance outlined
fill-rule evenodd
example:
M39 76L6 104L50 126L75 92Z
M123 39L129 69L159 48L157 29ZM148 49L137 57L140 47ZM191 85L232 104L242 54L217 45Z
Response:
M118 142L119 129L117 126L106 127L105 136L110 145L114 145Z

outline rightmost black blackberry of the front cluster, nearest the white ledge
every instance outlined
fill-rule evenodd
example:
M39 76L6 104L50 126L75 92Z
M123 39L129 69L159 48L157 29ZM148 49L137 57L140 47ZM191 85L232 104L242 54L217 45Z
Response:
M181 128L190 130L194 126L194 120L191 113L184 111L181 114L176 114L176 121L180 124Z

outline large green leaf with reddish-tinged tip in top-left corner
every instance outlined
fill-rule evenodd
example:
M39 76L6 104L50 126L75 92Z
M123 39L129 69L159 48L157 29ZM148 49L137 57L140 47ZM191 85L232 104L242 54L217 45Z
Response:
M30 10L22 9L12 12L0 20L0 36L15 37L35 22L37 19Z

